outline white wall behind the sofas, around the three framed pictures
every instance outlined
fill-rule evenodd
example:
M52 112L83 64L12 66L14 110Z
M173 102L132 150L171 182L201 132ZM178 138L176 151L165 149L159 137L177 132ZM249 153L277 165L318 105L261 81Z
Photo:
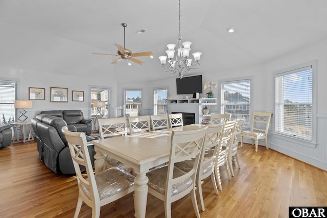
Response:
M29 99L29 87L45 88L45 100L33 100L33 108L26 109L27 121L42 110L81 109L84 117L89 118L89 85L111 87L111 108L116 107L116 81L106 75L94 75L90 78L50 74L31 70L0 67L0 77L20 79L20 93L17 100ZM50 102L50 87L68 88L68 102ZM84 91L83 102L72 101L72 91Z

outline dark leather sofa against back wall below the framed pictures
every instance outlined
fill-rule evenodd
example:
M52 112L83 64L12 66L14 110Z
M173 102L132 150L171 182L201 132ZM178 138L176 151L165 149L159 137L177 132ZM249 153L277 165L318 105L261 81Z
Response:
M92 119L84 119L81 110L48 110L41 111L41 114L57 116L65 120L67 126L75 126L77 132L84 132L86 135L92 132Z

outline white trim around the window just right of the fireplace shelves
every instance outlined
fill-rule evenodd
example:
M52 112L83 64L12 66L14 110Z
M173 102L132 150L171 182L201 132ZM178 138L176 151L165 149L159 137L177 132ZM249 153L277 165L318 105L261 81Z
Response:
M221 113L221 84L222 83L235 83L235 82L242 82L244 80L250 80L250 105L249 105L249 123L250 126L249 128L243 128L245 130L251 129L251 123L252 123L252 113L253 113L253 76L248 76L248 77L238 77L238 78L230 78L230 79L223 79L218 81L218 102L219 102L219 113Z

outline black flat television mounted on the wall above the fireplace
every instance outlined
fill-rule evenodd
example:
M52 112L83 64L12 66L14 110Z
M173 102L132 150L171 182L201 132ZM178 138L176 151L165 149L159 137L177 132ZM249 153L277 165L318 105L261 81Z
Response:
M202 75L176 79L177 94L202 93Z

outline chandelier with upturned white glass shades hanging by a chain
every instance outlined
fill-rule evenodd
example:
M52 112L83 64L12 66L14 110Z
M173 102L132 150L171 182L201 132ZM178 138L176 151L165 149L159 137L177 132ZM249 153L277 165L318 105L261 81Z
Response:
M177 47L175 50L175 44L168 44L168 50L166 51L168 56L168 64L166 64L167 56L160 56L160 62L162 64L161 70L164 72L171 72L175 74L178 72L178 76L180 79L183 77L183 73L187 72L190 73L191 69L197 69L200 67L199 60L201 52L193 53L194 62L192 63L192 59L189 58L190 54L190 46L192 42L185 41L182 42L182 36L180 35L180 0L179 0L179 26L178 26L178 38L177 38ZM176 54L175 54L176 52Z

